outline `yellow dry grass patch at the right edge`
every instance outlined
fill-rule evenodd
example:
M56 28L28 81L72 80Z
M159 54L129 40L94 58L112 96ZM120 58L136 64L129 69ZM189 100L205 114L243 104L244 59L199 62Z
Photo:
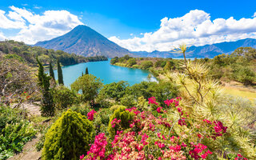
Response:
M246 88L236 88L236 87L233 87L233 86L225 86L224 88L225 88L224 93L226 93L226 94L231 94L231 95L234 95L234 96L240 96L240 97L243 97L243 98L248 98L251 101L254 101L256 99L256 92L255 91L252 91L252 90L249 90L249 89L246 89Z

